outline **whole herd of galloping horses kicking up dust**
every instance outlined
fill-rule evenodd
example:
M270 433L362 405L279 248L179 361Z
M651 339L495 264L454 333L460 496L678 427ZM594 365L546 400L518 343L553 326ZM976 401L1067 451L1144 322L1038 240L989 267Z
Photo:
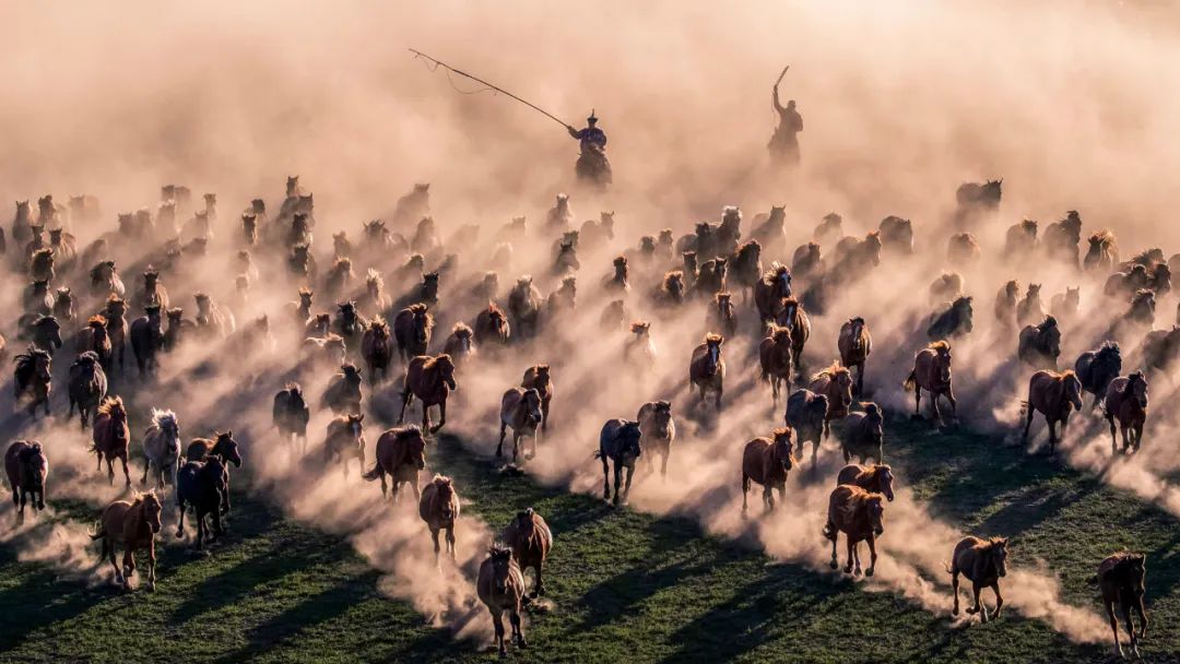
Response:
M433 539L435 561L444 548L439 541L444 533L446 553L453 558L454 528L460 512L459 487L438 474L424 486L419 485L419 473L426 468L428 439L446 425L447 401L458 389L463 373L478 368L476 362L480 355L504 359L513 347L535 349L537 346L530 342L577 307L578 252L610 246L615 237L614 212L603 212L598 221L585 222L576 230L571 228L575 217L569 197L559 196L543 225L545 235L556 236L556 257L549 276L557 288L545 297L531 276L523 276L506 298L502 298L497 271L489 270L464 281L457 269L458 254L445 252L447 248L463 244L465 234L478 235L479 228L465 226L444 242L428 216L428 185L417 185L399 199L387 219L363 224L363 242L354 245L346 232L335 234L332 267L323 275L313 251L314 198L300 186L297 177L288 178L286 196L274 218L268 217L266 203L255 199L241 213L238 231L221 242L215 242L215 232L224 231L215 223L216 196L206 195L204 209L194 211L181 223L191 210L190 198L191 193L183 186L165 186L155 211L120 213L117 230L110 232L100 232L98 202L93 197L71 198L68 208L57 204L51 196L42 197L35 218L27 202L18 203L11 237L24 244L12 252L15 255L12 264L17 274L28 280L24 294L26 311L17 330L17 338L27 342L27 350L14 357L13 384L18 405L34 420L38 410L48 415L53 383L65 380L70 401L67 418L77 409L83 430L90 429L91 451L98 458L99 472L105 460L109 482L113 485L114 462L119 461L130 487L131 432L127 408L117 393L126 394L135 384L155 384L159 380L160 364L192 340L222 343L244 356L271 353L282 343L284 348L297 349L297 357L293 357L300 369L316 370L320 375L332 370L327 387L315 402L320 410L333 414L322 445L324 462L339 464L347 478L349 464L355 459L360 475L368 481L380 480L382 495L392 493L395 501L400 488L408 485ZM955 223L970 228L995 213L998 200L998 182L964 185L957 196ZM740 464L742 514L748 511L747 494L752 485L762 487L765 511L773 511L774 494L778 492L780 501L785 499L788 473L799 465L796 455L802 455L805 443L812 443L812 466L815 467L821 441L835 428L847 465L837 474L822 535L832 545L832 568L838 567L838 538L844 533L847 544L844 571L872 576L877 563L876 540L884 533L886 504L893 500L894 474L884 465L884 412L877 403L865 400L866 368L873 353L868 321L865 316L846 320L833 340L835 357L809 375L802 370L804 351L808 342L813 342L812 316L825 314L840 290L853 283L856 275L863 276L879 264L883 254L913 254L912 225L907 219L887 217L879 230L860 238L844 236L841 218L828 215L815 229L813 241L793 252L791 267L774 262L763 270L763 251L778 255L788 251L785 209L773 208L769 213L758 216L749 237L743 237L741 223L741 211L728 206L719 224L702 222L694 232L680 238L666 229L657 236L643 236L637 249L615 256L608 276L599 283L598 295L607 300L599 331L612 335L622 331L625 335L624 356L650 368L657 362L650 337L653 322L636 320L631 307L642 303L655 313L673 313L693 307L694 302L703 304L707 333L688 354L684 384L695 395L697 410L712 409L720 414L726 402L726 342L742 336L739 320L747 313L756 320L758 331L750 338L759 362L755 373L769 388L772 405L778 408L781 400L784 410L782 426L766 436L749 440L740 458L734 455ZM96 236L81 251L77 249L70 224ZM408 239L392 230L411 226ZM1049 315L1040 302L1040 285L1030 284L1021 298L1018 284L1008 282L997 295L996 320L1016 333L1016 356L1035 370L1023 401L1025 439L1034 415L1041 413L1048 422L1051 454L1064 435L1070 413L1083 409L1082 396L1089 393L1093 395L1092 409L1102 406L1113 445L1117 449L1116 433L1121 432L1122 452L1130 453L1139 449L1142 438L1148 403L1147 373L1123 375L1117 340L1142 331L1147 321L1148 331L1140 354L1147 369L1167 370L1180 355L1180 328L1149 331L1149 322L1154 321L1154 297L1171 288L1171 261L1165 262L1161 252L1150 250L1120 263L1109 231L1090 237L1090 251L1079 261L1080 229L1080 217L1070 212L1064 221L1049 228L1040 249L1036 222L1024 221L1012 226L1005 242L1014 254L1043 250L1048 259L1071 262L1077 269L1113 270L1103 296L1129 295L1130 304L1127 314L1109 330L1108 340L1081 355L1074 369L1056 370L1061 342L1058 317L1076 313L1076 289L1068 290L1060 300L1055 297L1054 315ZM525 232L523 218L500 229L491 249L490 264L510 264L513 242L523 241ZM140 272L142 282L135 295L125 298L127 289L118 262L124 256L119 252L126 254L126 246L136 244L152 249L133 257L138 261L132 264ZM825 256L822 249L828 245L833 250L831 256ZM971 261L978 254L979 246L970 232L953 235L948 244L949 257ZM194 276L189 271L192 265L228 256L238 271L232 292L215 298L210 292L194 291L197 315L185 317L164 282L171 280L170 283L188 288ZM394 264L392 261L396 256L405 256L405 262ZM428 263L438 268L426 271ZM368 267L363 287L354 289L353 267L358 264ZM395 281L400 292L386 292L387 275ZM654 285L643 291L637 277L648 275ZM80 281L68 282L72 277ZM297 298L284 308L282 318L275 311L260 313L255 305L250 288L264 277L286 278L286 283L297 285L297 290L293 288ZM801 294L795 292L796 278L808 284ZM453 316L442 307L448 280L458 283L464 292L474 294L481 303L468 318L470 324L455 321L450 335L438 344L435 316L440 313ZM53 290L61 282L70 285ZM916 349L912 370L904 381L904 388L914 394L914 414L920 418L925 393L938 425L943 423L940 399L949 403L951 418L957 418L952 343L970 334L974 327L971 297L962 289L963 280L956 274L942 275L932 284L932 302L945 304L937 304L931 314L926 328L929 343ZM735 303L739 290L745 310ZM316 310L316 295L336 302L334 311ZM84 315L77 315L76 309ZM132 310L142 315L129 322L126 315ZM286 323L273 326L276 318ZM67 375L55 379L54 355L65 346L63 324L73 321L79 322L77 334L68 337L73 360ZM1020 324L1024 327L1016 330ZM136 362L135 375L124 369L127 343ZM441 351L431 354L432 347ZM376 389L399 374L400 412L395 426L381 433L372 447L373 465L368 467L362 387L367 379ZM538 453L537 441L549 429L551 406L557 396L556 374L557 370L546 363L527 366L519 384L503 393L497 458L505 454L509 429L514 462L526 461ZM297 442L299 452L307 454L313 408L300 381L281 384L282 389L273 400L273 425L281 439L293 442L293 449ZM404 425L415 400L421 407L421 425ZM438 409L437 423L432 419L434 408ZM232 432L227 430L209 439L191 440L182 454L177 414L155 409L150 420L142 436L144 472L140 481L146 484L151 475L157 491L173 487L178 508L176 537L184 537L184 517L191 509L196 524L194 546L201 548L206 539L216 539L224 531L222 519L231 507L230 468L242 465L238 443ZM641 403L635 419L608 419L595 452L602 462L604 499L615 505L627 501L636 464L644 452L657 458L650 461L651 467L658 465L660 473L667 474L675 439L673 403L667 400ZM34 509L44 508L47 447L34 440L17 441L9 446L5 461L18 519L24 519L28 495L32 495ZM110 559L116 580L124 585L129 585L129 577L135 573L135 551L146 548L148 586L155 586L155 535L160 531L163 511L157 491L137 494L130 501L112 502L103 511L92 535L101 539L103 557ZM526 508L504 528L502 539L503 544L494 545L479 567L477 592L492 613L497 644L504 653L502 616L505 611L510 614L512 639L520 647L525 645L520 612L529 598L544 593L542 573L552 546L552 533L540 514ZM866 543L870 555L864 567L860 541ZM116 564L117 546L125 552L122 568ZM978 613L984 622L989 619L979 592L990 587L996 596L996 609L990 617L999 614L1003 599L998 579L1007 573L1008 550L1005 538L968 537L951 552L949 570L956 614L959 576L972 584L974 605L968 607L969 613ZM1113 604L1121 603L1130 646L1138 652L1138 638L1146 629L1143 565L1140 554L1117 553L1102 561L1099 568L1120 652ZM522 572L526 568L535 571L533 589L527 596ZM1132 610L1140 614L1138 636L1130 625Z

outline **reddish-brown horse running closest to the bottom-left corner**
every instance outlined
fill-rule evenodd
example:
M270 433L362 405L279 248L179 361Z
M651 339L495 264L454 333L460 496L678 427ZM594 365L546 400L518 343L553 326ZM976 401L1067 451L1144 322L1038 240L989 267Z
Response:
M101 558L114 567L114 583L131 590L131 574L136 572L136 550L148 547L148 590L156 590L156 533L163 506L155 493L140 493L133 502L116 500L103 509L98 532L92 540L103 540ZM123 570L114 563L116 547L123 545Z

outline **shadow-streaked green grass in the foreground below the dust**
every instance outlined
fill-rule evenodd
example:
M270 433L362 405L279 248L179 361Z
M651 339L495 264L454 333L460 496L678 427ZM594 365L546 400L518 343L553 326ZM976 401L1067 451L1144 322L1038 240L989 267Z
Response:
M1014 564L1060 574L1067 601L1095 606L1088 579L1123 546L1148 554L1149 660L1180 653L1180 528L1123 492L995 438L930 435L891 422L886 454L931 511L965 532L1014 538ZM524 662L1104 662L1007 613L953 629L944 617L835 576L778 564L683 518L614 509L595 497L502 476L444 436L432 462L493 527L531 505L556 546L552 609L532 612ZM235 486L242 487L245 482ZM241 492L241 488L236 488ZM493 660L376 590L339 537L235 498L232 530L209 557L162 551L159 591L86 589L0 547L0 662ZM55 504L88 519L81 505ZM425 535L424 535L425 537ZM886 535L887 537L887 535ZM948 597L949 600L949 597Z

